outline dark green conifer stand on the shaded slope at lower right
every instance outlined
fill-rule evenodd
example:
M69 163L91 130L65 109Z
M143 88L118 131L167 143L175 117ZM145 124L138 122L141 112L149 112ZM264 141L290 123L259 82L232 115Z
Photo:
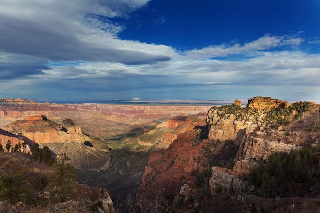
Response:
M318 149L303 146L290 153L271 154L269 161L260 162L248 175L248 185L254 185L261 197L305 196L320 181L318 172ZM288 192L290 194L288 194Z

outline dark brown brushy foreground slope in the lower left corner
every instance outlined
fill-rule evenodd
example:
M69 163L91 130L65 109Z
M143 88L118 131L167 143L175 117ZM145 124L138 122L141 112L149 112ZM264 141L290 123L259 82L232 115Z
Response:
M0 152L0 160L2 196L7 195L6 190L11 193L7 196L11 200L2 197L0 212L115 212L106 190L77 183L73 183L75 194L67 198L68 201L58 204L48 202L45 186L57 168L32 160L29 154L22 152Z

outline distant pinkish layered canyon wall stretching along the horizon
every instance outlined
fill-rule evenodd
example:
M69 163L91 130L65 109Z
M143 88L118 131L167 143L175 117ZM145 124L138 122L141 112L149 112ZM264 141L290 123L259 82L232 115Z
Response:
M143 125L154 120L207 113L210 106L146 106L119 104L56 104L26 99L0 99L0 128L24 117L45 115L61 123L71 119L82 132L105 139L128 126Z

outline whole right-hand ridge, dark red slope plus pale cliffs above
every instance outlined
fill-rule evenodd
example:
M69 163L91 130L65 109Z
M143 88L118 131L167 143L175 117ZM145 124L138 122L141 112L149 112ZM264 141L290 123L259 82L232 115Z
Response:
M269 97L254 97L247 107L240 105L237 101L234 105L212 107L207 125L198 123L201 131L178 134L167 149L152 152L142 178L141 197L146 199L145 195L150 193L172 197L183 184L203 188L205 171L210 172L207 183L212 192L217 191L217 186L224 189L232 186L233 190L243 192L245 183L239 177L248 174L261 159L267 161L272 153L288 153L319 141L318 104L291 105ZM197 139L197 135L205 132L207 137ZM231 160L226 161L229 157ZM212 167L218 164L228 169Z

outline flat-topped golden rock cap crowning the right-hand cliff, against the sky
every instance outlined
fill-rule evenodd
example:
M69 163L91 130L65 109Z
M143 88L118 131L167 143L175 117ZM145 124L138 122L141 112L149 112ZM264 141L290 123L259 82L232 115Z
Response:
M277 107L289 107L291 104L287 101L274 99L271 97L253 97L248 100L247 107L254 109L270 110Z

